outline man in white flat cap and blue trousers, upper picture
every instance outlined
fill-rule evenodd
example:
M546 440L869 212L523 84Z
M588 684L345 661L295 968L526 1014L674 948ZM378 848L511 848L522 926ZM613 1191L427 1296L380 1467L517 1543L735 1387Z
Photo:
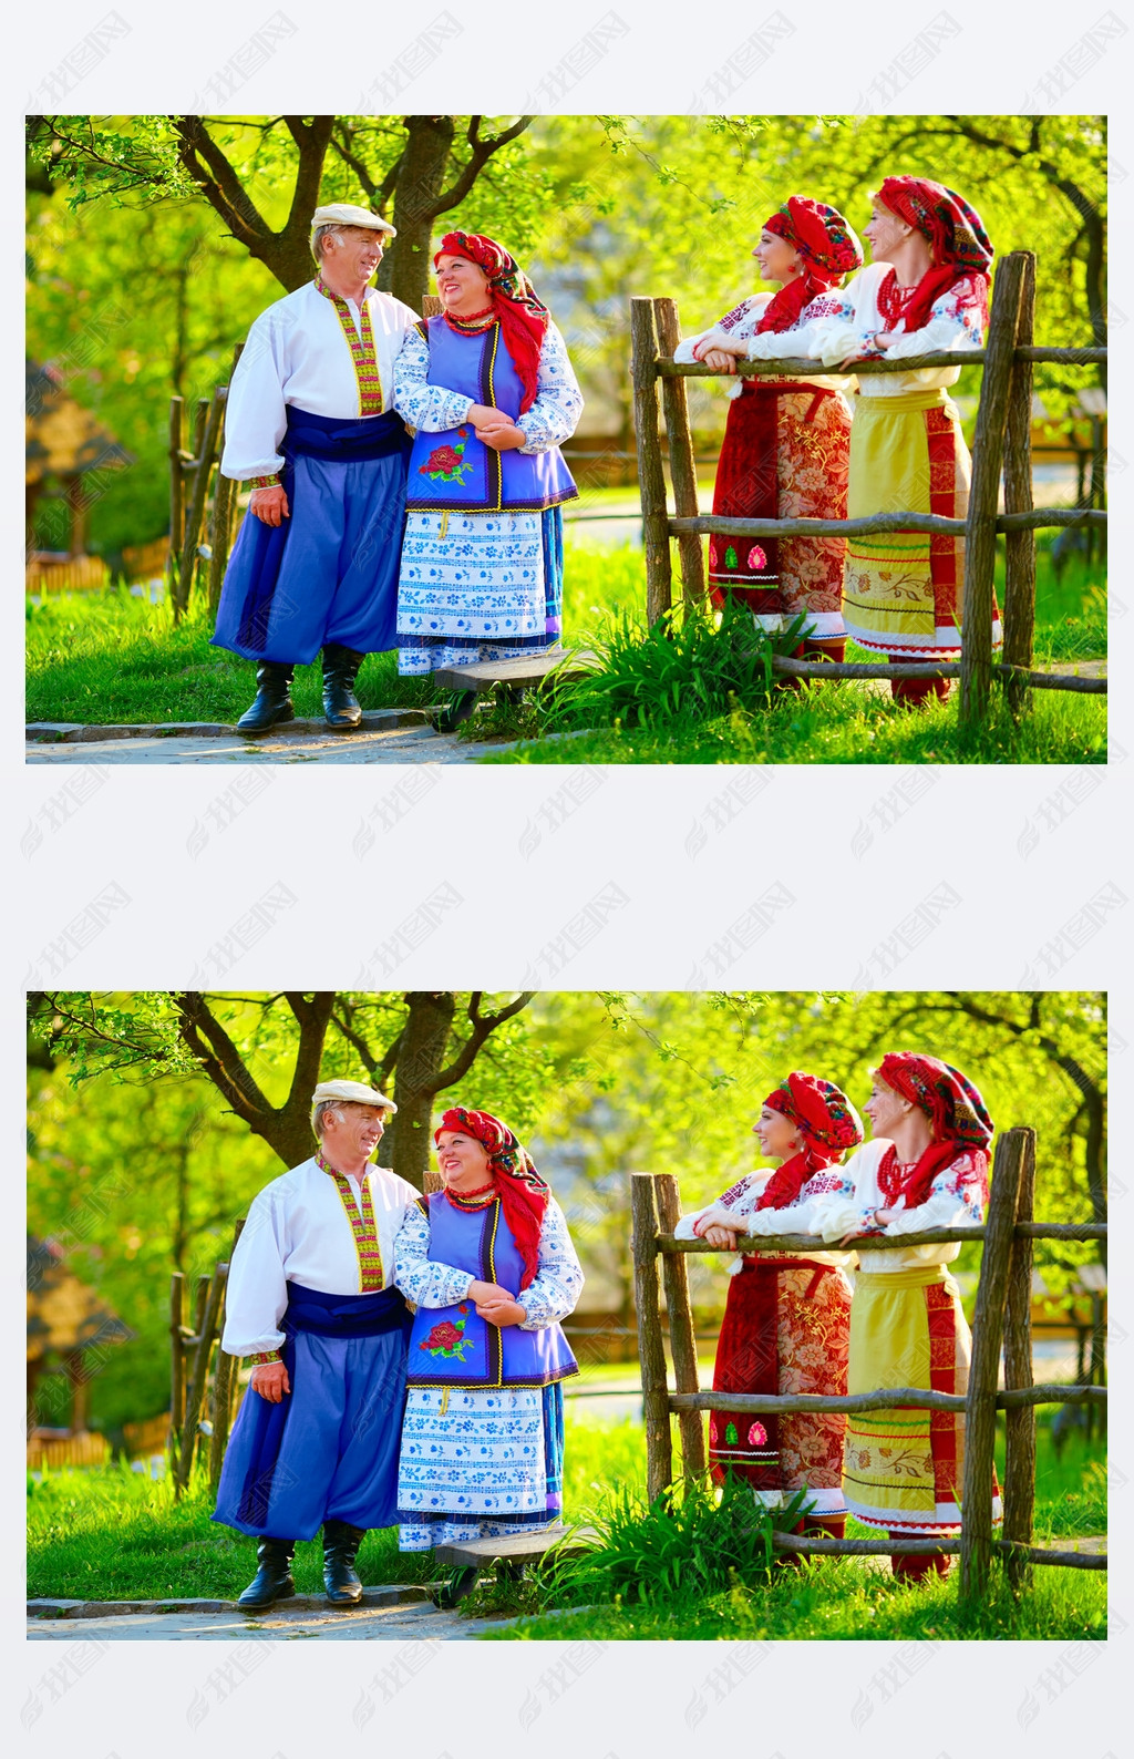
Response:
M315 280L260 313L232 375L220 468L253 493L213 644L257 663L244 734L295 718L295 665L320 647L327 725L350 732L362 658L397 646L410 442L390 392L417 311L367 285L389 237L367 208L316 208Z

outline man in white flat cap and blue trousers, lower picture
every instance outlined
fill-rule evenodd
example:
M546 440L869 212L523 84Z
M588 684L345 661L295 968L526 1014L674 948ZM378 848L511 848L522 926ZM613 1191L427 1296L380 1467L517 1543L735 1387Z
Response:
M318 1150L253 1198L232 1254L222 1346L255 1367L213 1520L258 1539L250 1611L295 1594L295 1541L320 1525L327 1599L353 1606L359 1544L396 1520L410 1314L394 1235L418 1193L369 1164L394 1110L376 1087L320 1082Z

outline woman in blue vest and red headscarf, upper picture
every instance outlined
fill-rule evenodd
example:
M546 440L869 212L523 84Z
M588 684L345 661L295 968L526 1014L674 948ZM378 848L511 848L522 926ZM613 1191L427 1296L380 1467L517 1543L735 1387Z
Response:
M447 232L433 262L443 311L406 332L394 368L394 406L417 429L397 582L408 677L557 646L559 508L578 494L559 445L582 396L547 306L491 237Z

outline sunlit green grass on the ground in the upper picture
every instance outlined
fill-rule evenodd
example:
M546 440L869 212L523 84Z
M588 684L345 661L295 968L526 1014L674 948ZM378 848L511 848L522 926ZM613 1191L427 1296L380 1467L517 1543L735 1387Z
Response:
M1000 565L1002 566L1002 565ZM1046 549L1037 561L1037 665L1076 663L1106 651L1106 595L1099 563L1074 556L1057 582ZM1000 588L1002 589L1002 588ZM642 552L603 545L577 528L566 542L564 640L592 646L628 616L642 617ZM253 695L248 661L209 646L211 619L200 607L172 628L164 605L125 591L72 595L28 605L30 721L146 723L225 721ZM870 658L854 654L849 658ZM360 672L364 709L424 707L438 691L429 679L399 679L394 654L367 658ZM763 700L763 698L760 698ZM988 725L963 741L956 700L921 714L895 711L890 698L856 684L775 691L772 707L745 698L730 712L712 691L684 690L656 704L649 726L626 725L619 700L594 732L571 737L571 762L584 763L1101 763L1106 762L1106 700L1037 691L1020 725L1004 711L999 688ZM295 709L318 716L316 667L301 667ZM596 709L596 712L601 712ZM469 737L526 737L517 751L487 762L563 763L564 741L545 739L577 718L494 705L469 725Z

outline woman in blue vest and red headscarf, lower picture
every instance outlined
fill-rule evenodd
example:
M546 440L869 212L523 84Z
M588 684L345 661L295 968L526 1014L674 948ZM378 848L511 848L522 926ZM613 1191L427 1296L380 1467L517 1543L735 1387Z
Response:
M550 1527L563 1509L559 1325L582 1270L563 1210L506 1124L447 1112L445 1186L404 1214L394 1281L417 1305L397 1476L399 1548Z

